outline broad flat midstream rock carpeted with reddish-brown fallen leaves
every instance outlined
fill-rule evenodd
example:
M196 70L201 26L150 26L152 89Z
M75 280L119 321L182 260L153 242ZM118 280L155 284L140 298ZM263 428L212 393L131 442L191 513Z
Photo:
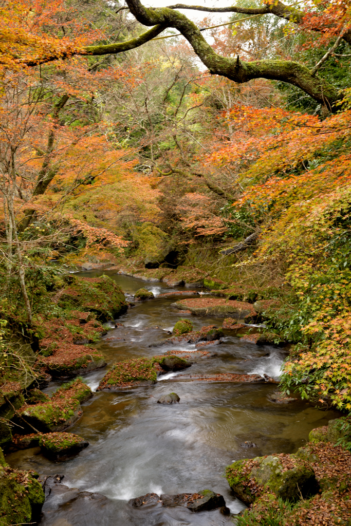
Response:
M224 298L182 299L171 304L171 307L190 310L196 316L230 317L236 320L244 319L245 321L250 321L257 317L257 313L250 303L226 300Z

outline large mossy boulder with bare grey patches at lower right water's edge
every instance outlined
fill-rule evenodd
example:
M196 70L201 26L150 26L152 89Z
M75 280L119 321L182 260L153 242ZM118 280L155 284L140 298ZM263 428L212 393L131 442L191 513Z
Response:
M319 490L313 469L294 454L237 460L227 467L226 477L235 497L246 505L263 493L294 501Z

